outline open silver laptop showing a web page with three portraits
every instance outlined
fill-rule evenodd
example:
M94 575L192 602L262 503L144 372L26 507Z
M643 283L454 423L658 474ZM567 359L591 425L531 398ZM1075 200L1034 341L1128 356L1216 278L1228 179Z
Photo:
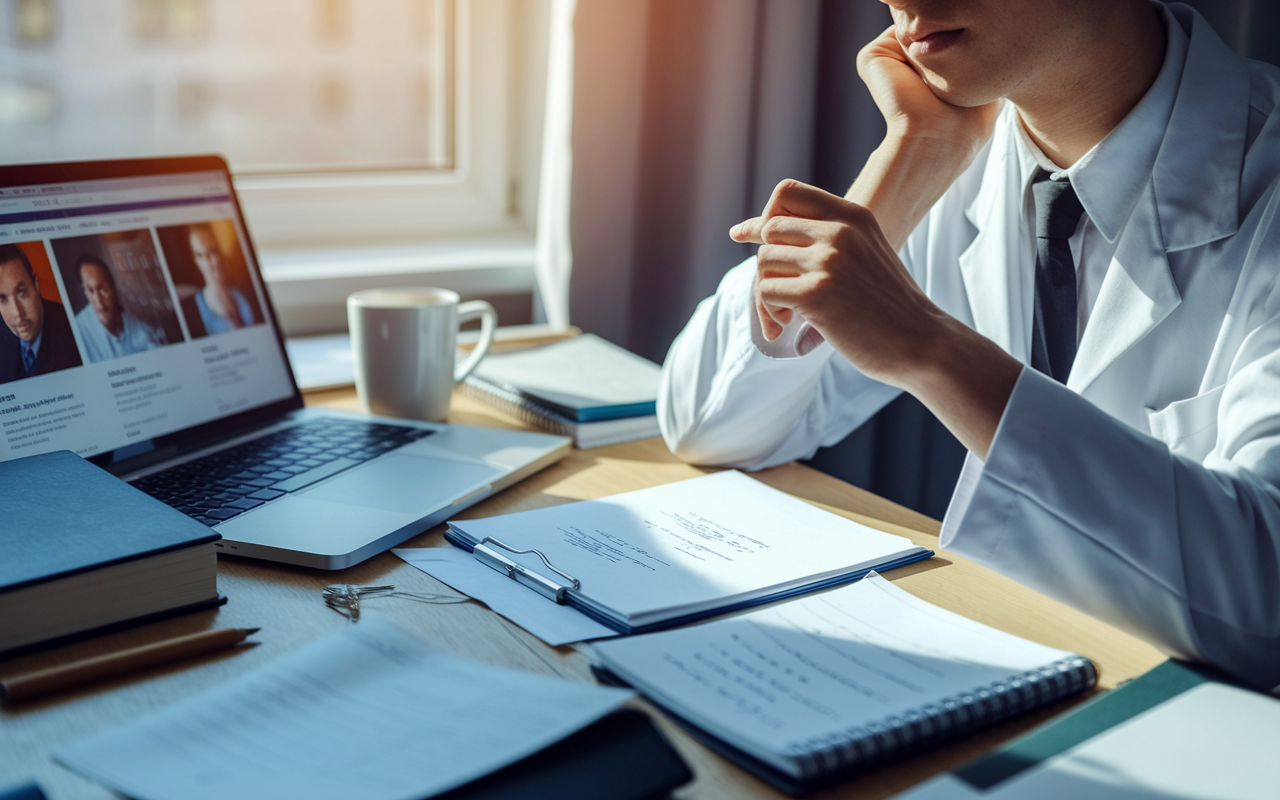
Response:
M570 449L305 408L218 156L0 166L0 461L73 451L224 554L349 567Z

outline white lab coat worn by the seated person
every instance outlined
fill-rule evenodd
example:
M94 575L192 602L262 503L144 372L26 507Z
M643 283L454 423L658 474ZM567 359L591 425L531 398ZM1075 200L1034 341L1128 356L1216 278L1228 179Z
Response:
M1239 59L1197 13L1171 9L1190 37L1176 101L1112 232L1068 384L1023 371L987 462L965 465L941 544L1272 689L1280 70ZM1025 362L1034 271L1019 169L1005 155L1014 133L997 123L902 257L942 308ZM753 279L754 260L730 271L664 365L659 422L689 461L759 468L806 457L896 396L829 344L797 358L762 353Z

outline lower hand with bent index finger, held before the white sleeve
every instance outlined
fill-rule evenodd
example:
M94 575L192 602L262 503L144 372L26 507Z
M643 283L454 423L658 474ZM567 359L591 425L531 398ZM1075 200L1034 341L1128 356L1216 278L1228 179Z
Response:
M801 314L854 366L902 387L945 317L902 266L867 209L783 180L735 241L762 244L756 314L767 339ZM905 388L905 387L904 387Z

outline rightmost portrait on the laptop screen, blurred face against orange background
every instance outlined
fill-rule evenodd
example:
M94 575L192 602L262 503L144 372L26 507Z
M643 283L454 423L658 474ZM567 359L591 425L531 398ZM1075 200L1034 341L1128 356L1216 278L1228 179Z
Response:
M156 233L191 338L262 321L232 220L157 228Z

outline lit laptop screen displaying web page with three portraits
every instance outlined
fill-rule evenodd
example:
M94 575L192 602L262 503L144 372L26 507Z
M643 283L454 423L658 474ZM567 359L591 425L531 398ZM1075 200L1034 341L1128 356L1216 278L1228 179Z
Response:
M227 172L177 163L206 169L0 173L0 461L118 462L297 397Z

